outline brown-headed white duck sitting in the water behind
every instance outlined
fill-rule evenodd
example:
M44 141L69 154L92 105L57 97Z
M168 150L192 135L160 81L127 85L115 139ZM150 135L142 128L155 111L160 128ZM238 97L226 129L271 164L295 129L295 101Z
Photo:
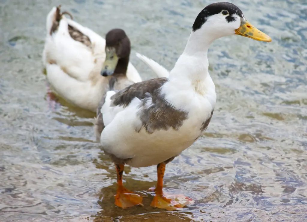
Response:
M96 112L110 88L119 90L142 81L129 62L130 40L123 30L113 29L107 33L106 42L72 20L69 12L61 13L60 8L53 7L46 20L42 55L46 79L52 93L77 107Z

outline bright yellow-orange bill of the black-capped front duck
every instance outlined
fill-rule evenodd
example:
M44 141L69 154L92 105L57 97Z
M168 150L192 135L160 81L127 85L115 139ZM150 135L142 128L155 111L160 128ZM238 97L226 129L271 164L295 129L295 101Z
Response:
M255 39L257 41L263 41L268 43L272 41L270 36L266 35L243 18L241 18L241 26L240 28L235 30L235 34Z

